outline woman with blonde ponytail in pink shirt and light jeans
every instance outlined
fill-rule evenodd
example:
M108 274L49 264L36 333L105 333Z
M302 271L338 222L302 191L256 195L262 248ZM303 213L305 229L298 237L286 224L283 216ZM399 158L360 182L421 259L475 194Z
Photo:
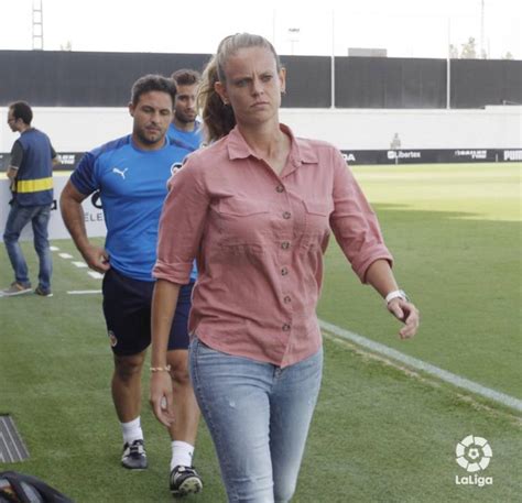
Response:
M152 367L166 369L173 306L197 259L191 379L230 502L287 502L295 491L320 385L315 309L330 229L404 322L400 336L418 326L340 153L280 123L284 88L265 39L241 33L219 44L199 96L210 146L171 178L154 267ZM171 386L168 372L153 373L151 403L165 425Z

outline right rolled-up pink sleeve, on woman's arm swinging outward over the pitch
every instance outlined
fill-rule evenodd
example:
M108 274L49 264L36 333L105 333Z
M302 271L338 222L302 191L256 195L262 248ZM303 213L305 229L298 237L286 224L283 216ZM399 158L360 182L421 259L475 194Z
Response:
M334 211L330 227L354 272L366 283L368 267L379 259L393 258L384 244L376 214L342 156L333 152Z

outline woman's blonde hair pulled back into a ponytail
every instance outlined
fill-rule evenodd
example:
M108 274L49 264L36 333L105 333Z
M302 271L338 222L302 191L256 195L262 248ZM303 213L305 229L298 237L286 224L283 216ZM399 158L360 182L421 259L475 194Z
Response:
M281 61L273 45L261 35L237 33L225 37L219 43L216 55L213 56L203 72L197 96L197 106L202 110L205 136L208 143L226 136L236 125L232 107L222 102L214 85L217 81L225 84L225 66L228 58L240 48L247 47L268 48L274 56L278 72L281 69Z

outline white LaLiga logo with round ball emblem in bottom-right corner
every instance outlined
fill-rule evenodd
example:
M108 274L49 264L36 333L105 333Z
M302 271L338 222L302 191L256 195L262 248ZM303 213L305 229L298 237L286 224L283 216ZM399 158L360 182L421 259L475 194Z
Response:
M455 448L456 461L459 467L463 467L469 473L475 473L480 470L486 470L493 456L493 451L488 444L488 440L482 437L474 437L468 435L460 440ZM455 483L463 485L491 485L493 483L492 477L461 477L456 475Z

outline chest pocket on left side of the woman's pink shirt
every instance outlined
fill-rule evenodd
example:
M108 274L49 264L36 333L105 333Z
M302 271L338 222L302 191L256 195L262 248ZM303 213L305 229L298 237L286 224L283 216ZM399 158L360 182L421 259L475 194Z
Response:
M217 205L218 229L228 244L263 244L270 230L267 203L240 197L220 199Z

